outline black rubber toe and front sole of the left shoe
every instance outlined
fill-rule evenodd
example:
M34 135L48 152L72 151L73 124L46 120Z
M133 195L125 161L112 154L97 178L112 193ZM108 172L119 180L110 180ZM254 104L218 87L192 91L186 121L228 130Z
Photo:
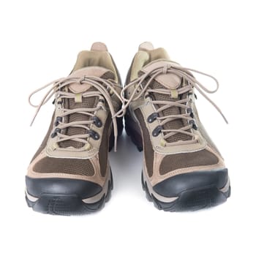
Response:
M99 184L91 181L26 176L26 202L34 211L43 214L88 214L100 210L110 199L112 175L107 183L102 190Z

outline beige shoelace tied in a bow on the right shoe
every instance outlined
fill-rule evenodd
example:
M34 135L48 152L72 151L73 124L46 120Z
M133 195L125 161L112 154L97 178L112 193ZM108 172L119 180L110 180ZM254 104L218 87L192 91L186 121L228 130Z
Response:
M217 84L216 89L214 89L212 91L207 89L192 75L192 72L197 72L201 75L205 75L208 78L213 79L215 81L215 83ZM214 92L216 92L219 89L218 80L216 78L214 78L212 75L208 75L206 73L197 71L195 69L190 69L187 67L176 67L176 66L172 66L171 64L167 64L164 67L158 67L156 69L151 70L150 72L146 72L145 74L141 75L139 78L137 78L136 80L133 80L131 83L129 83L127 86L125 86L124 89L122 89L122 91L121 91L121 98L124 101L124 106L122 108L122 111L125 112L131 102L136 101L137 99L142 97L144 94L146 94L147 96L149 96L149 93L169 94L170 95L170 90L168 90L168 89L150 89L150 88L148 88L148 86L151 84L151 82L154 80L154 78L157 77L157 75L167 74L167 73L178 75L178 77L183 78L184 81L187 81L187 85L185 84L183 87L181 87L177 90L176 93L178 93L178 96L181 96L182 94L185 94L185 93L192 92L193 88L197 89L197 91L199 91L200 94L202 94L203 97L205 97L208 100L208 102L210 102L212 105L214 105L214 108L217 109L217 111L221 114L221 116L224 118L225 122L227 123L227 118L225 118L222 111L206 95L206 93L213 94ZM150 79L148 80L148 82L146 83L145 86L142 86L143 81L145 81L146 78L148 78L148 76L150 76ZM127 91L127 89L129 89L129 87L131 87L131 86L135 86L135 89L132 92L132 94L129 95L129 99L127 99L125 97L125 91ZM187 102L189 102L188 97L187 97L187 99L180 99L180 100L176 100L175 102L154 100L154 99L149 99L149 100L152 104L162 105L162 107L157 109L157 113L155 114L155 116L152 116L152 118L157 118L160 121L159 126L156 129L154 129L153 135L154 135L154 133L155 133L155 135L158 135L159 132L165 133L165 135L163 136L164 140L162 141L162 146L166 146L166 145L174 146L174 145L181 145L181 144L185 144L185 143L186 144L187 143L195 143L195 141L197 141L197 136L195 134L193 134L192 132L187 132L187 130L189 130L189 129L196 128L195 121L192 119L192 115L190 113L191 108L187 107ZM179 115L162 116L162 117L160 117L158 115L158 113L161 112L162 110L166 110L167 108L171 108L173 106L176 106L178 108L184 108L186 110L186 113L179 114ZM181 127L181 129L163 129L162 128L162 126L164 124L166 124L169 121L173 121L177 118L186 119L188 121L188 125L185 127ZM149 122L151 121L150 118L148 121ZM172 135L175 135L178 132L192 136L193 140L186 140L186 141L180 140L175 143L167 143L165 141L165 139L169 138Z

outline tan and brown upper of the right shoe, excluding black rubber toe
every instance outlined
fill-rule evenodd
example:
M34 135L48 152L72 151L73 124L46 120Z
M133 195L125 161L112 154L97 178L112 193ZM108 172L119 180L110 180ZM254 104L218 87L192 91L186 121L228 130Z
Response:
M207 99L203 91L209 90L191 71L149 42L140 45L129 69L126 127L143 137L144 170L152 187L183 173L225 169L195 106L195 89ZM227 177L219 187L225 183Z

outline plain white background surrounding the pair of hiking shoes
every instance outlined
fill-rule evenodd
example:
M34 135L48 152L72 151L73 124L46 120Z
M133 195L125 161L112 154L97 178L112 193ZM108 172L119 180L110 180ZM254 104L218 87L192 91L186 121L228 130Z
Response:
M1 1L0 254L255 255L254 2ZM68 75L77 53L94 41L108 45L123 80L143 41L219 79L210 96L230 124L200 95L197 108L230 170L227 203L194 213L158 211L141 188L142 154L123 135L110 154L114 190L102 211L54 217L26 206L26 167L53 111L49 102L29 127L34 108L27 97Z

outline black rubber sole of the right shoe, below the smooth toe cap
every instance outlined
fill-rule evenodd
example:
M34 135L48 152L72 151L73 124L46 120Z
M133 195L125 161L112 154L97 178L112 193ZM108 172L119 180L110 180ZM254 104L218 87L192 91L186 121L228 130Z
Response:
M134 127L137 126L137 129ZM138 124L133 121L129 116L125 116L125 130L127 135L131 138L132 142L138 148L138 151L143 151L143 140L138 127ZM188 189L181 192L178 199L171 203L164 203L157 200L154 195L148 191L148 184L143 180L142 174L142 187L146 192L146 197L149 201L154 203L154 206L163 211L197 211L203 208L210 208L225 203L230 197L231 188L227 192L221 192L217 187L197 187L196 189Z

